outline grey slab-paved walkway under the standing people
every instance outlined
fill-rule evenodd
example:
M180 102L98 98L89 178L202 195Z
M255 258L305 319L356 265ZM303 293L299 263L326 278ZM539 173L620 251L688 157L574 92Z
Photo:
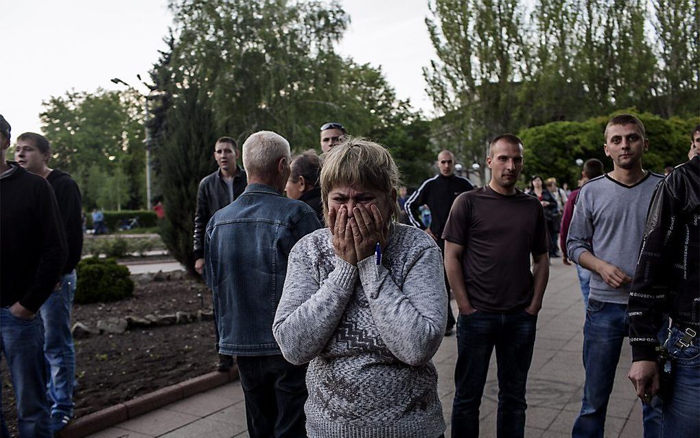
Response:
M454 302L453 302L454 305ZM581 363L584 310L576 270L554 259L538 319L538 336L528 378L526 437L570 437L571 425L580 409L583 385ZM481 436L496 436L496 355L493 355L481 408ZM449 418L454 395L456 339L444 338L435 355L440 381L438 390L449 437ZM626 374L629 344L624 343L617 367L615 388L608 407L605 437L642 436L641 409ZM162 409L120 423L93 438L148 437L248 437L243 392L239 382L203 392Z

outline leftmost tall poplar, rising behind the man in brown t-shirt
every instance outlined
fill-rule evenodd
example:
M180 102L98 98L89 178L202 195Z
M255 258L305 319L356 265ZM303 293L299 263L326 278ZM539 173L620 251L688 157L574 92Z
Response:
M423 69L444 114L438 137L483 167L489 137L519 127L517 90L526 76L523 9L517 0L435 0L426 19L438 60Z

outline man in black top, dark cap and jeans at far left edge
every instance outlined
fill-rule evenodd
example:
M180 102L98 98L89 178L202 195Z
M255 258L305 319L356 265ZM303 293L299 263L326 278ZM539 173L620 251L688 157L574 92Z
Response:
M52 437L39 308L66 263L66 235L51 186L6 161L10 125L0 116L0 338L21 437ZM9 437L4 418L1 434Z

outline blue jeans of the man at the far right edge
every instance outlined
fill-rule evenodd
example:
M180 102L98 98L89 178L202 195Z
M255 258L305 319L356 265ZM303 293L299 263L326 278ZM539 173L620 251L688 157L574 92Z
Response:
M668 353L675 359L671 398L664 403L664 420L661 424L664 438L700 437L700 341L678 348L675 343L682 332L671 327Z

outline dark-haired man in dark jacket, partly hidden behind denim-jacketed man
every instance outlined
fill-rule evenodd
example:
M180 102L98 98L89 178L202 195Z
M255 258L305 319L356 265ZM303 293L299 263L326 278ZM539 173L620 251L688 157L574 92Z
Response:
M195 250L195 271L204 274L204 232L207 223L218 210L232 203L248 185L246 172L236 163L238 159L238 144L231 137L221 137L214 144L214 159L218 164L216 172L207 175L200 181L197 190L197 211L195 212L195 228L193 246ZM216 327L216 321L214 322ZM218 348L218 329L216 329L216 345ZM228 371L233 365L233 358L219 355L217 368Z

